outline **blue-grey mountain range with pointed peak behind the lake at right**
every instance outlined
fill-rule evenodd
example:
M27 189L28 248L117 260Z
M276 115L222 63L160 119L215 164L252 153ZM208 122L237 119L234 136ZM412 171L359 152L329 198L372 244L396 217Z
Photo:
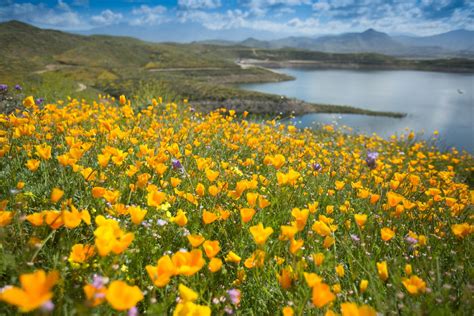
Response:
M390 36L368 29L316 38L286 37L262 41L250 37L244 41L204 41L215 45L243 45L255 48L298 48L328 53L381 53L402 57L474 57L474 31L456 30L434 36Z

